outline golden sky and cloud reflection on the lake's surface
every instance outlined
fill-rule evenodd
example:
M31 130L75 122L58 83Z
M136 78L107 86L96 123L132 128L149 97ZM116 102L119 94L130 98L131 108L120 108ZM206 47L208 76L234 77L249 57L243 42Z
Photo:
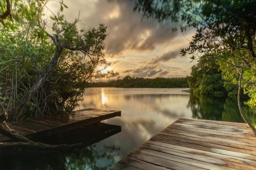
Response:
M98 144L100 147L112 143L120 147L120 156L116 158L118 161L179 117L191 116L190 109L186 107L189 93L181 90L89 88L80 109L122 111L121 117L104 120L104 123L121 126L122 132Z

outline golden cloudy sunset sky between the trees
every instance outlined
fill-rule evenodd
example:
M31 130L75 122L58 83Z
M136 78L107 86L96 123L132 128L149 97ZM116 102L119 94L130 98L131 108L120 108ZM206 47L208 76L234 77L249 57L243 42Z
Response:
M179 52L180 48L188 46L195 30L173 33L171 28L177 23L142 20L142 15L133 11L134 1L64 2L69 7L63 12L68 20L77 18L80 11L80 28L97 27L100 23L108 26L106 59L112 64L107 69L119 72L120 77L185 77L196 63ZM51 3L49 8L57 12L59 4Z

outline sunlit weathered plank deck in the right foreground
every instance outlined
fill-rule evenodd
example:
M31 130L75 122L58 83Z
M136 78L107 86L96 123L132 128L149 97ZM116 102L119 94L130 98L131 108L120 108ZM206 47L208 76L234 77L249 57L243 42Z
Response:
M246 124L180 118L110 169L256 169Z

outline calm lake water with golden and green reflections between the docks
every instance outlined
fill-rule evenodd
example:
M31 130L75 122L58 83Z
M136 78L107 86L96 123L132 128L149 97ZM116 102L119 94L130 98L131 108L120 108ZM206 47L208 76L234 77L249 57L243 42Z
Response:
M103 123L121 126L121 132L92 144L76 154L63 154L68 169L107 169L180 117L242 122L237 101L198 98L184 88L89 88L79 109L121 110L121 117ZM255 109L243 106L251 122ZM79 133L82 137L84 134ZM89 136L90 137L90 136ZM33 163L32 163L33 162ZM55 169L52 157L39 155L0 160L0 167L12 169ZM15 168L13 168L15 167ZM18 168L17 168L18 167ZM2 169L0 168L0 169ZM7 169L7 168L4 168Z

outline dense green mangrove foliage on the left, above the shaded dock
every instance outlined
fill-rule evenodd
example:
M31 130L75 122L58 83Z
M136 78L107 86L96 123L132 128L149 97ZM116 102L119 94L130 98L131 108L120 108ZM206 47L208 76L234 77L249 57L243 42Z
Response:
M102 74L97 67L105 60L106 27L78 29L60 11L53 14L52 32L45 8L48 1L13 1L12 19L0 22L0 112L12 113L23 96L44 76L38 90L26 103L25 116L69 112L82 100L87 82L92 78L115 75L113 70ZM0 14L5 4L0 5ZM58 55L59 57L55 57ZM53 59L57 64L51 65ZM49 69L53 66L53 69Z

